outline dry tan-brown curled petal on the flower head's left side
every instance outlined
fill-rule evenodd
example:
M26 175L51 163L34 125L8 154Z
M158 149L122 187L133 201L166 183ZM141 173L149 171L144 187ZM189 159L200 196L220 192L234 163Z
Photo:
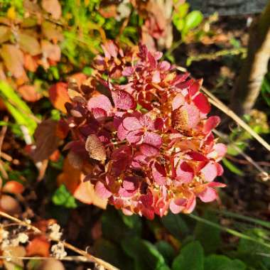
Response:
M90 134L85 142L85 149L89 153L90 158L97 161L106 161L106 151L102 142L97 138L95 134Z

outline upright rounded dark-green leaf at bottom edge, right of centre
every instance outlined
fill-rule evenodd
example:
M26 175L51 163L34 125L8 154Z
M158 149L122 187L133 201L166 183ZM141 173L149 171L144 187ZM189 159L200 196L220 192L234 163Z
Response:
M172 270L204 270L203 259L200 242L190 242L180 250L180 254L174 259Z

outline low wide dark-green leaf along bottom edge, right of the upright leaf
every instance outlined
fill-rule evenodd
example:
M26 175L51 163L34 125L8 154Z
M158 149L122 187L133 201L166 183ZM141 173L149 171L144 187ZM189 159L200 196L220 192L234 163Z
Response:
M210 255L205 258L205 270L245 270L247 266L239 259L229 259L223 255Z

